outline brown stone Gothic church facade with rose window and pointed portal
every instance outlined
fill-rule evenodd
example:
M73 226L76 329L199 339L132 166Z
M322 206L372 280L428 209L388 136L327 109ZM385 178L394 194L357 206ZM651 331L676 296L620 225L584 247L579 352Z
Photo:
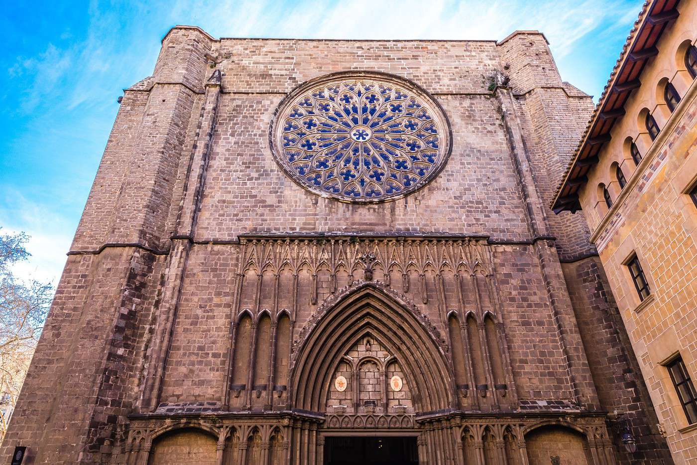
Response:
M215 39L124 92L1 450L27 464L672 464L546 39Z

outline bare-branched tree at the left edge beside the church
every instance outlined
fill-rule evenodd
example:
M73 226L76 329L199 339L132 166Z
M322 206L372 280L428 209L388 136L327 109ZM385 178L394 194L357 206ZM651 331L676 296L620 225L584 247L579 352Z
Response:
M28 260L23 232L0 235L0 441L5 435L26 370L52 300L52 286L21 281L11 265Z

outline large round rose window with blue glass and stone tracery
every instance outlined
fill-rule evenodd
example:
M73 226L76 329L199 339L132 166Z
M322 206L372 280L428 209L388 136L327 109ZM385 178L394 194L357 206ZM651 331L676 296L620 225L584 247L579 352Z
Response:
M298 184L349 202L381 202L430 182L450 154L441 106L381 73L336 73L302 84L276 110L270 145Z

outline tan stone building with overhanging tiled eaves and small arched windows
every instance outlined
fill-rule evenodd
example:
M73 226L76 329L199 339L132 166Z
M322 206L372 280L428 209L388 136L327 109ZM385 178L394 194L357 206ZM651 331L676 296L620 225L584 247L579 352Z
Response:
M696 25L694 1L644 6L553 200L583 209L681 464L697 463Z

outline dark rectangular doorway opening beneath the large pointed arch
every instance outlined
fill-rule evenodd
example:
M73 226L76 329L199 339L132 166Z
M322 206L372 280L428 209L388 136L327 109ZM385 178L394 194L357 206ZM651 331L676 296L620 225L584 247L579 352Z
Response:
M325 465L417 465L415 436L328 436Z

